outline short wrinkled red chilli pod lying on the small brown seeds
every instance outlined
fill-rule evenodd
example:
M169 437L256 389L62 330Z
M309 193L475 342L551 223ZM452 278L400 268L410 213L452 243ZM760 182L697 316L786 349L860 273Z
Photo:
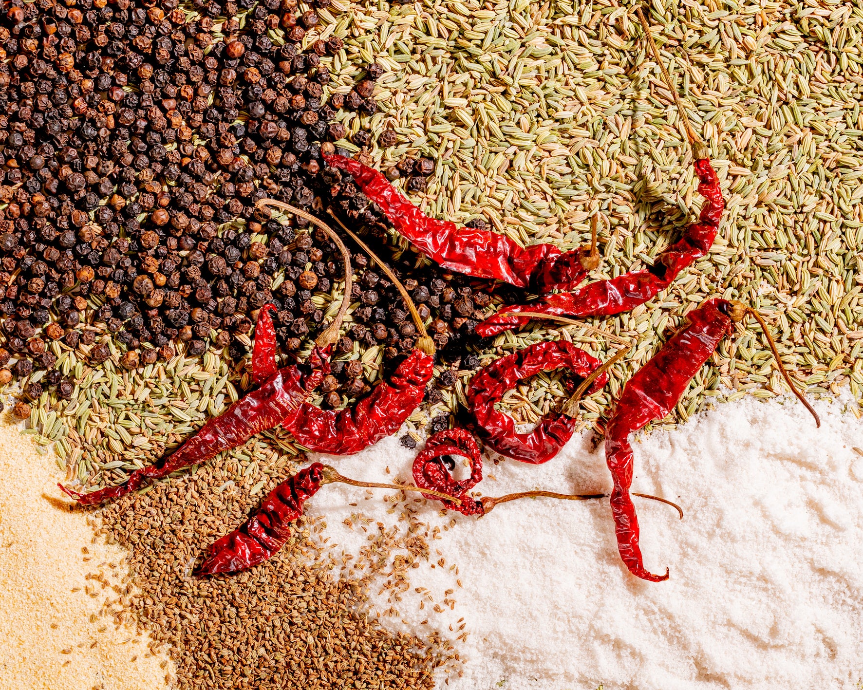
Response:
M236 573L272 558L291 536L291 523L302 515L303 504L318 492L323 471L315 462L276 486L255 515L211 543L194 576Z

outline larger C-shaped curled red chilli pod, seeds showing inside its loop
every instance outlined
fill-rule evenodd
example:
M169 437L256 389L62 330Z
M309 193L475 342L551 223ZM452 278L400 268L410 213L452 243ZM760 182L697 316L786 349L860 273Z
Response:
M466 396L477 434L490 449L514 460L534 465L551 460L570 440L576 419L550 413L531 433L517 434L513 418L495 410L494 404L521 380L536 373L567 368L586 378L601 363L571 342L562 340L537 342L492 362L470 380ZM598 391L607 381L608 374L600 374L589 392Z

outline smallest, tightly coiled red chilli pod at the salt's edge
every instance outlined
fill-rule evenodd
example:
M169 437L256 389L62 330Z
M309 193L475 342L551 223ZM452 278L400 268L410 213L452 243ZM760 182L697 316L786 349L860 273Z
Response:
M444 461L445 455L458 455L470 462L470 476L456 481ZM450 510L463 512L464 515L482 515L482 502L468 495L470 489L482 481L482 457L479 446L470 432L463 429L446 429L430 436L425 442L425 450L413 460L413 481L420 489L432 489L450 494L461 500L461 505L452 501L440 500ZM424 494L425 495L425 494ZM436 497L425 495L426 499Z

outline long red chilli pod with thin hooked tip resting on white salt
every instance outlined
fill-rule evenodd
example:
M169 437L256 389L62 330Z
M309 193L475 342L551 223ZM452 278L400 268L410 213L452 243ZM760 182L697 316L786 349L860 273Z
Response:
M633 449L629 435L653 419L667 415L690 380L719 345L722 336L731 333L731 319L720 311L728 305L721 299L711 300L690 312L690 323L665 343L651 361L627 381L614 417L608 422L605 434L605 457L614 480L611 494L611 512L620 558L629 572L642 580L659 582L668 578L654 575L644 567L639 548L639 521L629 496L633 483Z

